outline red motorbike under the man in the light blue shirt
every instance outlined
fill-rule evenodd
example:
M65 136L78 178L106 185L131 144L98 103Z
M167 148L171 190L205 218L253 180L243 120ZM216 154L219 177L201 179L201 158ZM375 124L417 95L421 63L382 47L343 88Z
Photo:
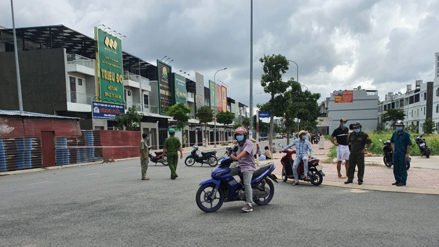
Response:
M283 148L282 144L279 147ZM292 154L296 153L295 149L289 148L284 151L285 155L280 159L282 164L282 181L286 182L288 179L294 179L293 175L293 162ZM323 182L323 177L325 173L322 171L322 166L319 164L319 158L314 158L308 160L308 180L305 180L305 175L303 174L303 161L300 162L297 168L297 174L299 175L299 180L306 182L311 182L313 185L320 185Z

